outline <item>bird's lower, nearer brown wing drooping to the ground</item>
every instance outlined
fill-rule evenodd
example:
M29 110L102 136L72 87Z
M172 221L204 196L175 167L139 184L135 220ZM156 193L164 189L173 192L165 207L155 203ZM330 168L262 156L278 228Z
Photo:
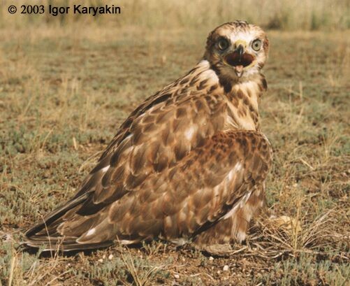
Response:
M116 237L124 243L156 236L170 241L192 238L260 185L270 160L270 145L262 134L219 132L99 212L83 215L75 206L58 226L60 234L73 238L64 247L96 248Z

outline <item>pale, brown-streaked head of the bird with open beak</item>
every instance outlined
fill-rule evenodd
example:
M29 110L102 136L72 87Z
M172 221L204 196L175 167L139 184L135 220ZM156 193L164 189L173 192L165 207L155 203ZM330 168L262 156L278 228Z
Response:
M228 22L207 37L204 58L221 76L245 80L259 73L268 56L268 38L254 24Z

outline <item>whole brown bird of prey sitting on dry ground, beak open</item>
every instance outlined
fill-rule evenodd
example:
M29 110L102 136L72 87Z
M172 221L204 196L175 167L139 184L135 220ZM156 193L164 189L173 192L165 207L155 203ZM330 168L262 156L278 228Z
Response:
M194 69L133 110L80 190L30 227L24 244L243 241L264 206L272 160L258 113L268 46L254 24L214 29Z

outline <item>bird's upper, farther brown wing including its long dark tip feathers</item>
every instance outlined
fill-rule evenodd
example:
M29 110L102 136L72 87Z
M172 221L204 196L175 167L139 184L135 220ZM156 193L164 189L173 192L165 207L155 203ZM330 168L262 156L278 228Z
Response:
M151 96L122 124L80 191L29 229L27 236L57 235L59 223L70 220L69 215L96 215L135 191L152 173L175 166L224 127L225 110L218 94L203 90L176 92L170 87Z

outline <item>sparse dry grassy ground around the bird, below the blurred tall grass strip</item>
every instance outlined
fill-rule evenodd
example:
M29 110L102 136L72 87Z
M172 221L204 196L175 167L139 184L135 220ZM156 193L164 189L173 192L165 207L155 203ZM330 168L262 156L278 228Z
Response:
M257 222L229 257L160 242L71 257L17 249L22 228L76 191L124 117L203 54L208 29L175 26L0 29L0 285L349 281L349 31L268 32L261 115L275 151L269 215L291 225Z

